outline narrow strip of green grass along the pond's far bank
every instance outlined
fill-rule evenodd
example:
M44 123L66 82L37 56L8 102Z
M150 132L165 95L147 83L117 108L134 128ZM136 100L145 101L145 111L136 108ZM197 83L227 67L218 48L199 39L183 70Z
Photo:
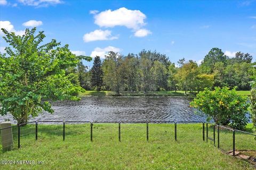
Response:
M190 96L194 97L196 96L197 92L187 92L185 94L185 91L150 91L150 92L143 92L143 91L135 91L135 92L129 92L124 91L120 95L121 96ZM237 94L239 95L250 95L250 91L237 91ZM92 90L86 90L85 92L79 94L79 96L115 96L115 92L113 91L92 91Z

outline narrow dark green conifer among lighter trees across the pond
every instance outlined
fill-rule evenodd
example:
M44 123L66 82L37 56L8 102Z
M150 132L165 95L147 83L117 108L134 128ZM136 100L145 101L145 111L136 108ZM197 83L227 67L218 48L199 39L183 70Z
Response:
M103 85L103 71L102 71L102 63L100 60L100 56L96 56L93 61L93 66L91 70L92 74L92 86L95 86L97 91L100 91Z

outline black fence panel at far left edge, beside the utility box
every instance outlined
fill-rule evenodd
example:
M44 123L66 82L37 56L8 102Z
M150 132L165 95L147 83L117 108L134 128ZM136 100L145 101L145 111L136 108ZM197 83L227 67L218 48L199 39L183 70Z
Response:
M11 143L11 141L7 140L6 141L6 135L10 135L9 133L6 133L6 131L10 131L10 129L12 129L12 138L13 138L13 143ZM2 138L2 133L4 135L4 137ZM18 148L18 125L13 125L10 126L8 128L3 128L0 130L0 150L1 151L6 151L8 150L11 145L12 145L12 149L17 149ZM5 141L3 141L5 139ZM7 145L5 148L3 148L3 143L10 143L9 145Z

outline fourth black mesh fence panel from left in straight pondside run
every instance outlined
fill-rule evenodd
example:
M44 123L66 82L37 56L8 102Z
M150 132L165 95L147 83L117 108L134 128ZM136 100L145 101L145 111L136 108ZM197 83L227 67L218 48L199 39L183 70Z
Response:
M147 140L147 122L122 122L121 141Z

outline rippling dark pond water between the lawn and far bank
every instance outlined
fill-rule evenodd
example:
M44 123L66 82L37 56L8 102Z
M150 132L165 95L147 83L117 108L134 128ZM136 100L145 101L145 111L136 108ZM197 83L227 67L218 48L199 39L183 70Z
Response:
M205 121L189 107L187 97L83 97L53 103L54 113L43 112L30 121ZM0 121L11 115L0 116Z

